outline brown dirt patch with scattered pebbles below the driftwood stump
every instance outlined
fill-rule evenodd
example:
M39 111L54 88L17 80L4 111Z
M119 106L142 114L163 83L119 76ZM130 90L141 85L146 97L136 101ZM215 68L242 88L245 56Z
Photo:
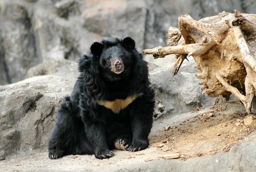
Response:
M150 142L159 151L180 153L181 160L227 152L256 129L255 119L246 113L211 110L179 125L167 125L162 134L151 136Z

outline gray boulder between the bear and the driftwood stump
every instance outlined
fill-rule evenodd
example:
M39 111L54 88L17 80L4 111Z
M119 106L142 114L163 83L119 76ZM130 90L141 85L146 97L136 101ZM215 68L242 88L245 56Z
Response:
M211 105L215 98L202 94L195 77L199 71L193 61L184 64L177 75L172 76L172 68L156 68L150 72L149 79L156 90L156 102L164 106L163 113L184 113L194 107ZM158 105L156 105L157 107ZM159 111L159 110L158 110ZM158 113L162 115L161 113ZM157 115L156 115L157 116Z

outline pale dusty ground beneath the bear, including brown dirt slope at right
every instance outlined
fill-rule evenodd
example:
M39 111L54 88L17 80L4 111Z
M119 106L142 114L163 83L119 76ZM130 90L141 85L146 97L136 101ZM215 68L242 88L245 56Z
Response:
M143 151L114 150L115 156L103 160L93 155L51 160L47 152L41 152L0 161L0 171L90 171L155 161L171 153L179 153L179 159L186 161L229 151L235 143L256 129L255 117L252 117L250 126L245 126L244 119L247 117L245 113L221 111L221 107L195 108L189 113L162 116L154 121L149 137L150 146Z

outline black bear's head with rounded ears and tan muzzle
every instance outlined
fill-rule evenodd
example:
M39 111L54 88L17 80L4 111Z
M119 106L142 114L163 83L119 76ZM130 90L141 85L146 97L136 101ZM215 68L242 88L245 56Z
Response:
M91 52L98 60L99 74L106 81L128 78L139 53L132 38L118 38L95 42Z

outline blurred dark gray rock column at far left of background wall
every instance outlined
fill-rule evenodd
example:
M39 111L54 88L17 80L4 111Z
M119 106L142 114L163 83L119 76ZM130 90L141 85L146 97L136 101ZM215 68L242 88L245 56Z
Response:
M2 10L4 54L0 58L8 66L5 69L10 82L17 82L26 78L27 70L39 64L40 59L36 55L35 37L27 9L18 4L6 4Z

